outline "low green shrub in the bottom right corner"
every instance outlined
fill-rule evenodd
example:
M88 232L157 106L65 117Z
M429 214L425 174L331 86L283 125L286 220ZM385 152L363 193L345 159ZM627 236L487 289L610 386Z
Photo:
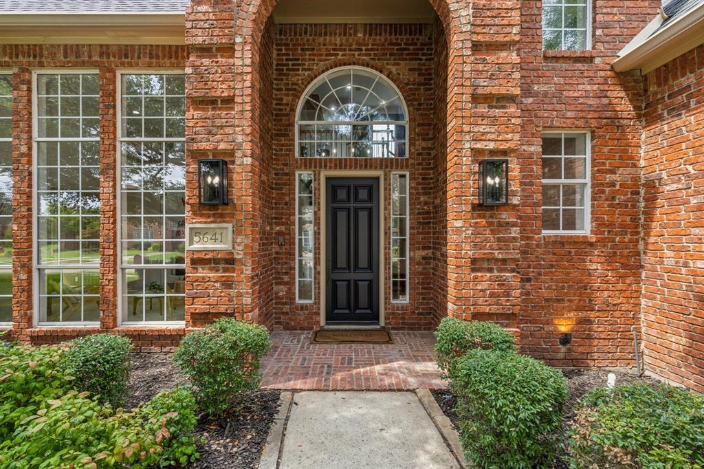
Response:
M573 469L704 468L704 396L661 384L594 388L570 436Z

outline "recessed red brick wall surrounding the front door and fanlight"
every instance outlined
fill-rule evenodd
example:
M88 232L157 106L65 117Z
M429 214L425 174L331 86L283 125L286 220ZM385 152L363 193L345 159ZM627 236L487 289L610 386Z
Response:
M392 304L388 280L385 323L396 329L433 326L432 210L434 206L432 25L277 25L274 68L274 187L275 235L284 246L274 246L275 325L312 328L320 325L320 285L313 304L296 304L295 298L295 170L312 170L315 177L315 249L320 246L320 170L383 170L386 218L389 220L390 178L394 170L410 172L410 301ZM410 146L408 158L388 160L334 160L294 158L295 112L298 100L315 78L332 68L361 65L374 68L401 89L408 106ZM384 239L389 239L384 223ZM389 242L382 244L385 265L390 265ZM320 279L320 251L315 278ZM383 278L389 276L388 268Z

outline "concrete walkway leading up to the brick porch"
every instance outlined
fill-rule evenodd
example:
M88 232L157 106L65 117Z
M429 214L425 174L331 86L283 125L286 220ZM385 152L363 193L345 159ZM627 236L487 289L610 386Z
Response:
M415 392L286 394L260 469L460 468Z

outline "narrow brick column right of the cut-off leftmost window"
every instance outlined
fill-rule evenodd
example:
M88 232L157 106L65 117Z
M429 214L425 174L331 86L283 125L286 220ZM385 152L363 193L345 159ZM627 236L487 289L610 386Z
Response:
M32 70L13 70L13 336L27 343L34 308L32 261Z

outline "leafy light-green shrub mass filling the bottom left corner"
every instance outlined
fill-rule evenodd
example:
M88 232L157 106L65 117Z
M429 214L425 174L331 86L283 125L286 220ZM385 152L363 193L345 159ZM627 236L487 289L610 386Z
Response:
M165 403L169 398L162 395L161 402L137 411L113 413L88 395L70 391L44 401L0 443L0 467L139 469L170 465L165 456L197 458L192 437L188 441L182 434L194 419L193 408L187 407L192 398L182 405ZM172 397L184 395L179 391Z

